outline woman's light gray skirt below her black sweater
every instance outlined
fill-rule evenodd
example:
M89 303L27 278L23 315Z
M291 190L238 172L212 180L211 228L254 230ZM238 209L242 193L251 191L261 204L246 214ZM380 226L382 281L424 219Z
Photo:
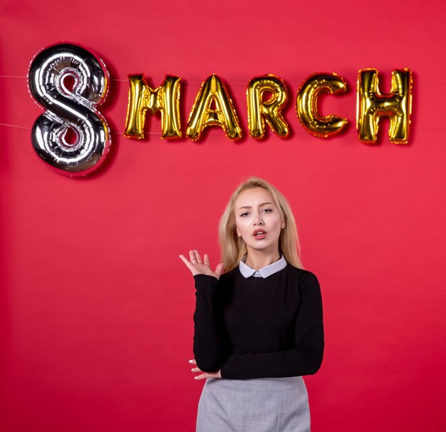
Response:
M197 432L309 432L304 379L208 378L199 398Z

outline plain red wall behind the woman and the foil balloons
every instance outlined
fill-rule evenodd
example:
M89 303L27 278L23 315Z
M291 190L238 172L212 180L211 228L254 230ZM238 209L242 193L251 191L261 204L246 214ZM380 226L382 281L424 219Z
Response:
M60 1L0 6L0 428L195 431L203 381L192 358L191 248L217 264L217 223L234 187L259 175L294 209L304 264L323 292L326 354L307 377L314 432L446 430L446 8L440 0ZM33 55L80 43L108 66L101 113L113 132L97 173L72 179L38 160L41 110L26 88ZM358 141L356 78L414 73L409 145ZM341 136L306 133L294 111L314 72L349 91L321 100L350 120ZM182 77L182 130L211 73L232 93L244 139L208 128L197 143L123 138L129 73ZM293 133L247 138L246 87L289 86Z

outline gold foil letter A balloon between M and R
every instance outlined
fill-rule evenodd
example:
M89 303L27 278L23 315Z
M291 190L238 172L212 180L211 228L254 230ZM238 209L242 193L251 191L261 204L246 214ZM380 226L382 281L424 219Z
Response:
M224 83L212 75L202 83L187 122L186 136L198 140L207 126L220 126L229 140L242 136L237 113Z

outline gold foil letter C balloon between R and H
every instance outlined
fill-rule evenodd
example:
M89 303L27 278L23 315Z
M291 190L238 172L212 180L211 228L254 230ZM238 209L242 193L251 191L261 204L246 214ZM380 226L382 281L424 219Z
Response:
M296 98L296 113L304 129L319 138L340 133L347 124L347 119L318 113L318 96L321 91L331 94L347 90L346 81L336 73L314 73L301 84Z

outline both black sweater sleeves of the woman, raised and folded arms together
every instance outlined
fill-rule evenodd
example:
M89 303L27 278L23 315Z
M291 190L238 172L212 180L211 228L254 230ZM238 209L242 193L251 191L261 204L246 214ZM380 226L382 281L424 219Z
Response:
M217 371L227 379L301 376L318 371L324 336L321 290L314 274L304 272L299 281L301 304L294 331L295 348L259 354L230 354L222 328L218 279L208 274L196 274L194 279L197 289L194 354L199 371Z

